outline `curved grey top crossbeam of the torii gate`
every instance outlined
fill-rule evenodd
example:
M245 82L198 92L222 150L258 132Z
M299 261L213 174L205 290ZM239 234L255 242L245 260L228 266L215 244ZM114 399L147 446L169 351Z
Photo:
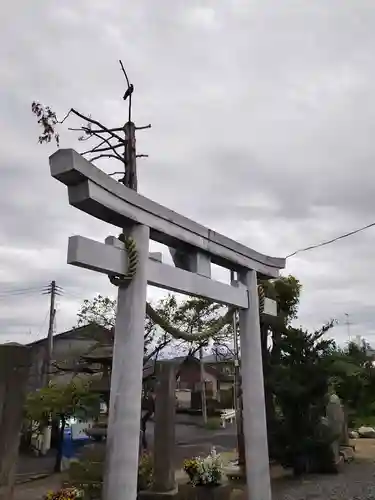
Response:
M285 267L285 259L256 252L123 186L73 149L54 153L50 168L68 187L71 205L105 222L120 228L144 224L154 241L198 251L234 271L252 269L261 278L275 278Z

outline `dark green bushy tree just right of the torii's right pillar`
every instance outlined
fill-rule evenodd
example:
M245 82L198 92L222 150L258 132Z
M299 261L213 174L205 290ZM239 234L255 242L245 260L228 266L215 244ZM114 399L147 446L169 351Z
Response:
M280 358L272 367L271 386L275 408L273 453L296 473L309 465L329 467L330 436L320 435L331 379L334 342L324 334L333 322L309 333L288 327L281 336ZM328 462L324 463L325 460Z

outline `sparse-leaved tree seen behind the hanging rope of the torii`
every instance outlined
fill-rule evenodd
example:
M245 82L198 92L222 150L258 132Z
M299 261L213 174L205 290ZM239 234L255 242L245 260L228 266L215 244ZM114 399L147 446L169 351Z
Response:
M113 329L116 307L115 300L101 295L85 300L78 313L78 326L100 324ZM232 326L222 320L223 317L226 317L224 307L219 304L191 297L179 302L175 295L168 294L159 300L145 317L144 367L149 367L151 362L155 366L157 359L167 347L170 353L183 353L188 357L204 350L211 339L216 343L225 343L232 333ZM100 343L94 346L96 347L100 347ZM142 405L148 411L142 418L142 431L143 444L147 446L146 427L154 411L153 400L148 394L148 389L152 389L153 386L153 372L147 369L144 373L147 375L144 376L145 396ZM179 377L179 371L176 377ZM205 392L202 390L202 410L205 420L206 408Z

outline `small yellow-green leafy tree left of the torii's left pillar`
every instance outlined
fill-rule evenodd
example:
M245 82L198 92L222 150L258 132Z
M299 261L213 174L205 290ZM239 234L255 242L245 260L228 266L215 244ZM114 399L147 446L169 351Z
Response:
M45 416L59 422L59 441L55 471L61 470L62 445L67 421L72 418L86 420L99 414L100 402L90 391L90 384L70 382L67 385L50 385L28 395L25 414L31 421L45 425Z

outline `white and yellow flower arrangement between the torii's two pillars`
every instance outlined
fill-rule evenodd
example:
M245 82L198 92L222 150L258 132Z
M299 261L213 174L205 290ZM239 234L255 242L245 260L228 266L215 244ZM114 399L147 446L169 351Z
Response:
M219 486L221 483L223 465L215 448L205 458L185 460L183 468L194 486Z

